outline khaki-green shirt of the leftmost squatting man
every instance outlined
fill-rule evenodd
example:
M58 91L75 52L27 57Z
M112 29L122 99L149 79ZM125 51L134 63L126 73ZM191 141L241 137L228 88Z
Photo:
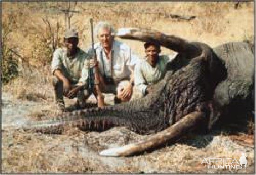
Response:
M78 52L74 59L67 57L66 48L58 48L54 51L52 61L52 73L56 69L62 71L64 76L75 82L77 85L86 86L88 79L88 64L89 54L78 48Z

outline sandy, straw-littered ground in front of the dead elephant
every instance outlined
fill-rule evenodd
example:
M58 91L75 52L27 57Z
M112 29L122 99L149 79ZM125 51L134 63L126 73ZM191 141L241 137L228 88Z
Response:
M137 135L115 127L104 132L68 129L63 135L27 133L19 129L31 120L34 108L47 108L42 102L18 101L2 94L2 171L7 172L253 172L253 135L230 135L218 129L209 134L188 134L175 144L167 144L133 157L102 157L98 153L137 141L150 135ZM204 158L236 158L242 152L248 164L243 169L208 169Z

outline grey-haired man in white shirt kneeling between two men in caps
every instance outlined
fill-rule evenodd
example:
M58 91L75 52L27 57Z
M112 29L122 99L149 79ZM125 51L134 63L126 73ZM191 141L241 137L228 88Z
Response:
M112 93L116 99L129 101L134 84L134 67L138 57L128 45L114 40L114 29L108 22L99 22L95 31L99 43L94 45L99 67L102 93ZM92 54L92 49L88 50ZM98 98L104 100L103 98Z

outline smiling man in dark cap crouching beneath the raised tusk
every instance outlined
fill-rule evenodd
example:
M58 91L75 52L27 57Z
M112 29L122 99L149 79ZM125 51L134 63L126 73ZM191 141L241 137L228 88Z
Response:
M150 40L144 44L146 57L135 66L135 95L142 97L150 92L148 85L160 81L167 69L167 64L174 60L175 55L159 55L160 44L156 40Z

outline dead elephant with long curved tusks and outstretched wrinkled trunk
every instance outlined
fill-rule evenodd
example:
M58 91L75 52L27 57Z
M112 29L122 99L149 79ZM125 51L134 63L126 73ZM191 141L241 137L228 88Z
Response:
M176 71L167 72L162 81L152 85L155 93L137 101L67 113L56 121L47 121L48 125L29 129L60 134L67 125L98 131L126 126L140 134L158 132L147 141L100 153L128 156L175 141L202 124L210 129L227 108L239 103L248 110L254 103L253 45L249 43L230 42L210 48L204 43L136 28L117 35L132 40L159 40L163 47L178 53L176 61L168 65L176 67ZM181 63L183 58L188 62Z

